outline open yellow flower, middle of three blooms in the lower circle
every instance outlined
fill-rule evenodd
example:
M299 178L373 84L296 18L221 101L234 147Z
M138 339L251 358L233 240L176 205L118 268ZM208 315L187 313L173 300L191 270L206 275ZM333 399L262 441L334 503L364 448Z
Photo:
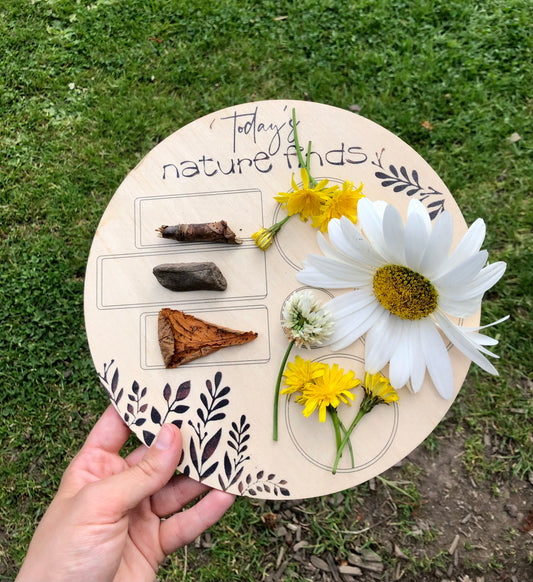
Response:
M324 373L313 382L308 382L296 401L305 406L304 416L310 416L318 408L318 419L325 422L328 406L337 408L341 402L351 406L350 400L354 399L354 395L350 390L359 383L360 380L351 370L345 374L338 364L331 367L324 364Z

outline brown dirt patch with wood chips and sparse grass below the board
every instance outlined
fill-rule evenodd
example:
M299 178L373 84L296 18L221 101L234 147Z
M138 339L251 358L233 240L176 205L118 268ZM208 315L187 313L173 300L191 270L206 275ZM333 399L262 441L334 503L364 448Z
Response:
M258 503L254 527L280 541L263 555L263 579L533 582L533 483L474 481L463 465L465 438L441 437L436 453L420 446L355 491ZM347 500L344 547L317 555L313 520L328 527L327 515ZM204 536L198 549L210 547Z

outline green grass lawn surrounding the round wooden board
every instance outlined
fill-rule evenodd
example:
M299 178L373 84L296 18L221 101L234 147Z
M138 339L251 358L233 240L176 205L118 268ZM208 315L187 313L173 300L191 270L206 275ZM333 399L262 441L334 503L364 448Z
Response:
M485 218L491 260L508 263L483 311L487 322L511 314L494 331L500 376L472 368L437 434L468 431L465 464L476 477L532 473L530 17L525 0L3 0L0 576L16 573L68 459L106 406L82 304L101 214L158 142L240 102L358 104L428 160L468 222ZM498 455L487 456L487 433ZM347 492L340 512L308 502L310 552L342 553L339 532L369 495L366 486ZM189 552L185 579L271 571L281 541L261 512L239 500L214 528L214 547ZM163 577L182 579L178 557Z

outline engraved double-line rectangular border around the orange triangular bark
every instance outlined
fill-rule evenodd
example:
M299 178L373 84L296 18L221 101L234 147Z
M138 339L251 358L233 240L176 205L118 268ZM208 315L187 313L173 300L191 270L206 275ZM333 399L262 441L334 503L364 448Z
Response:
M266 305L242 305L239 307L233 308L225 308L225 307L217 307L214 309L193 309L187 310L187 313L190 315L198 316L201 319L204 317L201 315L203 313L216 313L219 311L223 311L224 313L233 313L234 311L243 311L243 310L261 310L265 312L265 320L266 320L266 329L267 329L267 346L268 346L268 354L265 358L254 358L251 360L224 360L223 362L206 362L203 361L202 358L198 358L197 360L192 360L187 364L183 364L182 366L178 366L179 368L207 368L207 367L220 367L220 366L244 366L248 364L266 364L270 362L271 359L271 351L270 351L270 325L269 325L269 317L268 317L268 307ZM145 311L141 313L139 316L139 333L140 333L140 367L142 370L166 370L164 364L160 365L149 365L147 363L147 341L146 338L148 337L148 333L146 330L146 322L148 317L150 316L158 316L159 311ZM224 349L224 348L222 348ZM226 353L226 352L225 352ZM227 353L230 353L228 350Z

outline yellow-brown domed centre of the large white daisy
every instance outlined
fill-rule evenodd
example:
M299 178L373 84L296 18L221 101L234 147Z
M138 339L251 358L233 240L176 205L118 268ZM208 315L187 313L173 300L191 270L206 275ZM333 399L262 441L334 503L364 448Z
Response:
M373 284L377 300L401 319L422 319L437 308L438 294L431 281L408 267L380 267Z

